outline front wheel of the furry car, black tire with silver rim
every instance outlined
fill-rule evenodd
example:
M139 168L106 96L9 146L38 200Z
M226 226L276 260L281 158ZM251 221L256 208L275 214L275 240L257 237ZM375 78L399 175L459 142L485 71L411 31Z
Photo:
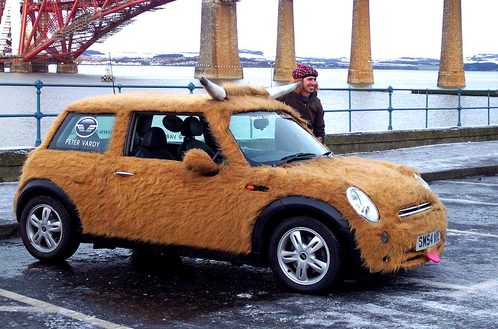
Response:
M334 233L311 217L280 223L270 237L269 265L287 288L326 293L342 275L342 250Z

